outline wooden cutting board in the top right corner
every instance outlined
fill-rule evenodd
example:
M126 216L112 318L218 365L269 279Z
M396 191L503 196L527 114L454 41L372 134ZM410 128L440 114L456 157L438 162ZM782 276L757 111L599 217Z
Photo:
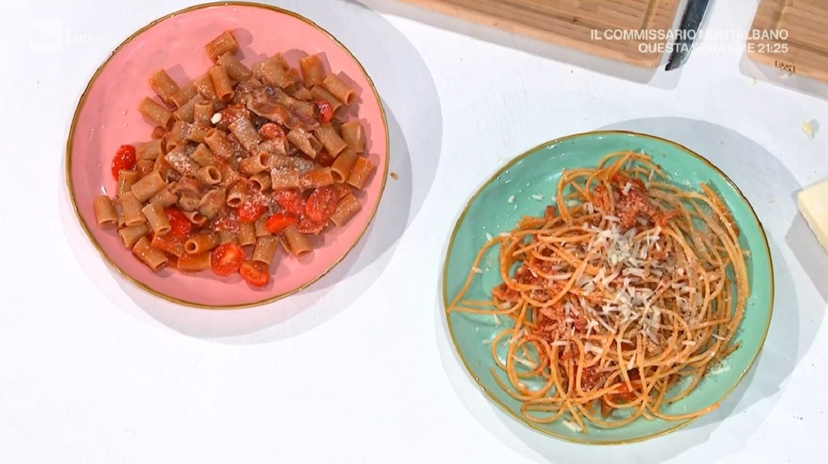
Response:
M747 46L751 60L828 82L828 0L762 0Z

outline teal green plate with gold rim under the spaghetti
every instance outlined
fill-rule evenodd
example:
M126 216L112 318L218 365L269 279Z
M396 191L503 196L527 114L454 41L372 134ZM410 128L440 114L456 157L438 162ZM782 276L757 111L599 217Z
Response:
M633 132L589 132L550 141L517 156L474 194L460 214L446 251L443 304L448 306L462 288L474 257L487 242L487 234L496 236L499 232L508 232L522 216L542 216L546 204L554 203L561 170L595 166L604 155L624 150L643 151L651 155L670 180L685 189L698 189L700 183L711 184L734 215L741 231L741 246L750 251L748 273L751 294L744 320L735 337L740 347L725 360L724 366L729 370L719 369L716 375L708 374L691 395L671 404L665 412L686 414L705 409L719 403L734 390L762 348L773 310L773 264L762 225L736 185L710 161L672 141ZM535 198L537 195L543 195L543 199L538 200ZM509 201L511 197L514 197L513 202ZM465 299L489 299L492 287L502 283L498 275L497 247L489 251L479 265L483 273L475 276ZM505 318L501 323L507 323ZM606 429L590 424L588 434L573 432L561 421L533 423L520 413L520 402L493 380L494 367L497 375L508 385L505 374L494 364L487 344L504 326L498 327L492 316L459 312L448 315L448 326L463 364L489 399L539 432L571 442L621 444L658 437L693 420L637 419L621 428Z

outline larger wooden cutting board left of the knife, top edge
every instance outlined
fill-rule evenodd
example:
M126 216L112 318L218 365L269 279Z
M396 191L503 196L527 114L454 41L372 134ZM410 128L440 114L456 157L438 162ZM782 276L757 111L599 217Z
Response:
M401 0L567 48L656 68L680 0ZM826 1L826 0L821 0ZM654 31L647 36L625 31ZM626 35L626 36L625 36ZM665 38L658 41L657 39ZM643 40L642 40L643 39ZM653 40L650 40L653 39Z

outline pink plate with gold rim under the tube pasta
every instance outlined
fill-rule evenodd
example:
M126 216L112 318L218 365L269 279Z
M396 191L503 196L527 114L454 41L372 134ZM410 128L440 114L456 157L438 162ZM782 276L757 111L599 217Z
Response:
M115 182L110 166L118 146L150 140L152 124L137 112L141 98L155 97L148 82L150 74L166 69L178 84L204 74L210 65L204 45L227 30L237 37L246 65L264 55L282 52L289 64L298 68L302 56L324 53L330 71L347 76L359 94L353 105L357 109L355 117L363 123L368 139L368 159L376 165L373 177L358 194L363 205L358 215L344 227L334 227L316 237L315 250L306 256L297 259L280 251L271 270L272 280L264 289L253 289L239 275L222 278L209 271L185 275L176 270L156 274L124 248L113 229L97 225L92 209L95 196L113 196ZM126 279L179 304L243 308L304 289L342 261L359 242L385 188L388 126L365 69L320 26L269 5L209 3L152 22L118 46L97 70L75 111L66 146L66 171L80 224L101 256Z

